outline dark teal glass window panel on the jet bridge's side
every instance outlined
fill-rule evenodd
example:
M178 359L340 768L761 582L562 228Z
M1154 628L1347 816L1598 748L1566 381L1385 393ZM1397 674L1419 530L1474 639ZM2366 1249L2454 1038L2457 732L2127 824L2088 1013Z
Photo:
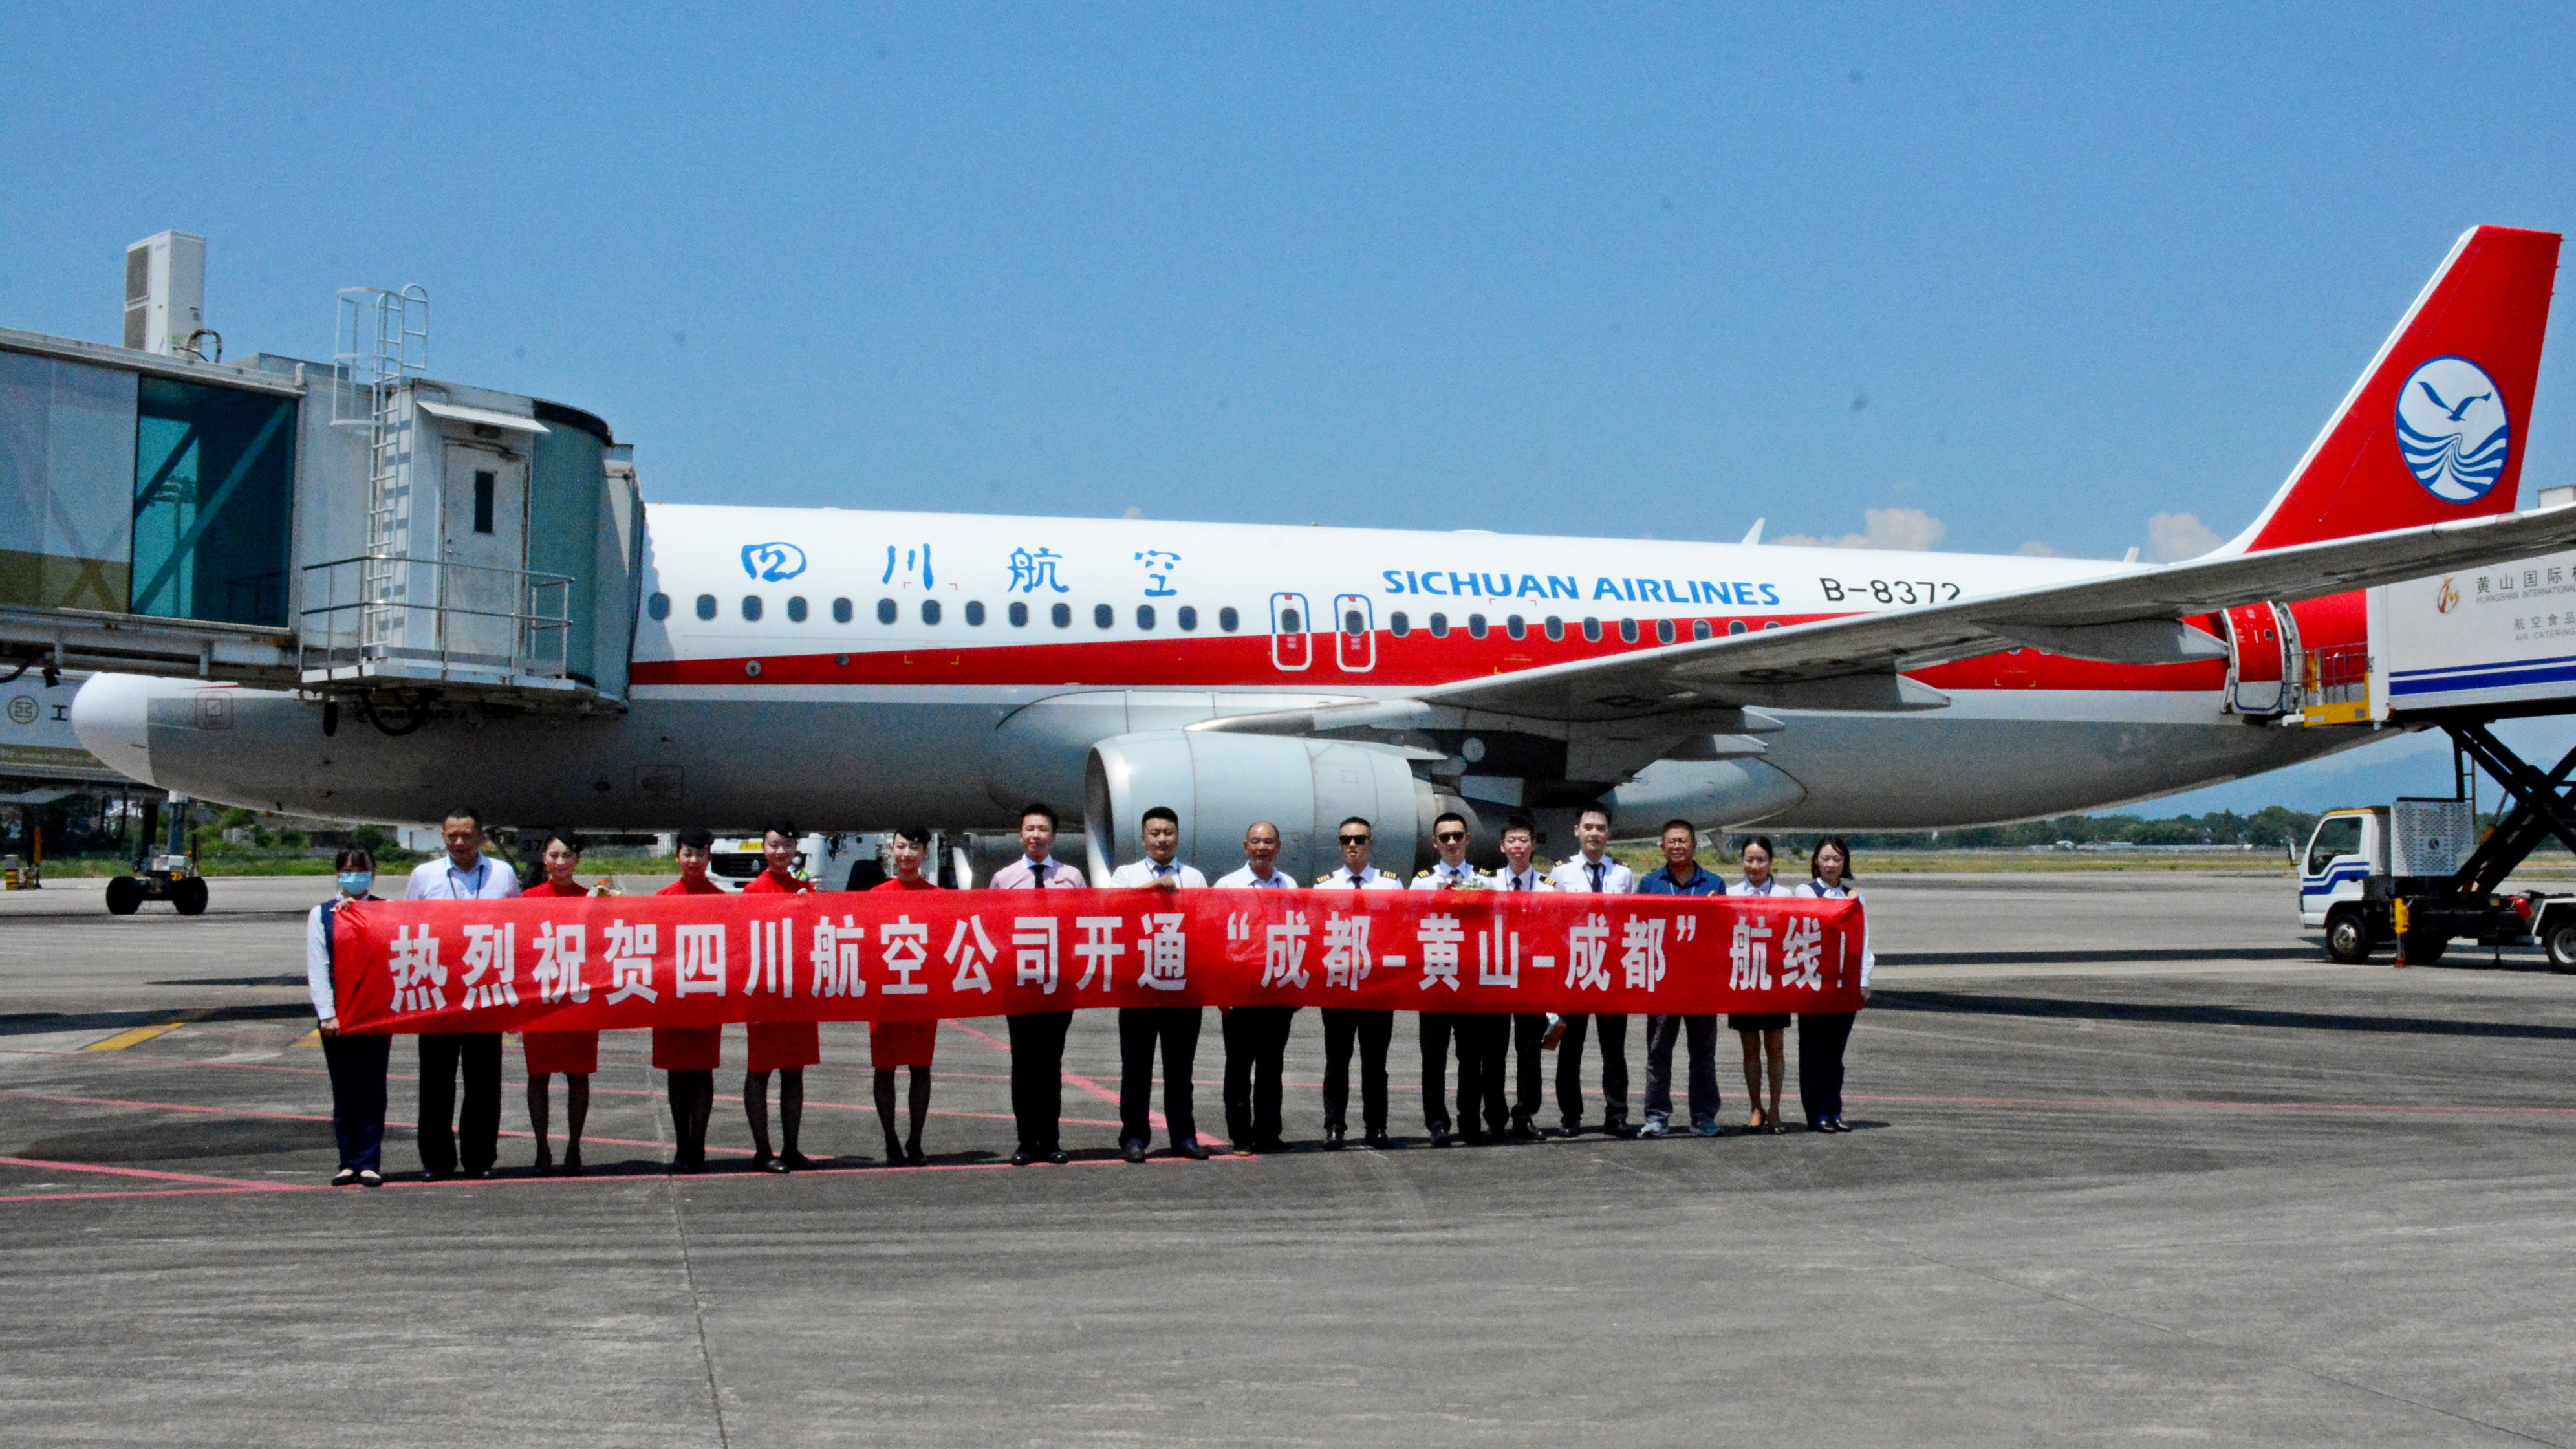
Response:
M296 402L144 376L134 413L134 614L283 627Z

